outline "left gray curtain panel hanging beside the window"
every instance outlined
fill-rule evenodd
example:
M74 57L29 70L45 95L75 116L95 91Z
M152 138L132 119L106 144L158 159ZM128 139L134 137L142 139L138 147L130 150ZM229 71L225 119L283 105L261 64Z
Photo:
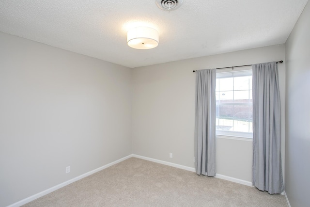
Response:
M198 175L216 175L216 69L196 74L195 166Z

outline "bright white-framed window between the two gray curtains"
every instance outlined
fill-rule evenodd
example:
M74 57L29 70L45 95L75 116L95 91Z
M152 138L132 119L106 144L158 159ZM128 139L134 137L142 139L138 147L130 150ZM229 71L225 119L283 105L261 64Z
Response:
M252 138L252 70L217 72L217 135Z

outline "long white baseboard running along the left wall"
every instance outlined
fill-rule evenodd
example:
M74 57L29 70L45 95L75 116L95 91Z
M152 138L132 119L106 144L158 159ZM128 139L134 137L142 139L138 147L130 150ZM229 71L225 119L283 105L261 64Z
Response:
M106 169L106 168L108 168L108 167L110 167L110 166L112 166L112 165L115 165L115 164L117 164L117 163L119 163L119 162L121 162L121 161L124 161L125 159L131 158L131 157L132 157L132 155L128 155L128 156L126 156L126 157L124 157L124 158L118 159L118 160L116 160L116 161L114 161L114 162L111 162L111 163L106 164L106 165L104 165L104 166L102 166L102 167L99 167L99 168L97 168L97 169L94 169L94 170L92 170L92 171L90 171L90 172L88 172L88 173L85 173L85 174L83 174L83 175L79 175L79 176L77 176L77 177L75 177L75 178L72 178L72 179L70 179L70 180L68 180L68 181L65 181L65 182L63 182L63 183L61 183L61 184L59 184L59 185L56 185L56 186L54 186L54 187L51 187L51 188L49 188L49 189L47 189L47 190L45 190L45 191L41 191L41 192L39 192L39 193L37 193L37 194L31 195L30 197L25 198L25 199L23 199L23 200L21 200L21 201L18 201L18 202L14 203L14 204L11 204L11 205L9 205L9 206L7 206L7 207L20 207L20 206L22 206L22 205L24 205L24 204L27 204L27 203L29 203L29 202L31 202L31 201L33 201L33 200L39 198L39 197L42 197L42 196L44 196L44 195L46 195L46 194L48 194L48 193L50 193L50 192L56 191L56 190L58 190L58 189L60 189L60 188L62 188L62 187L64 187L64 186L66 186L66 185L69 185L69 184L71 184L71 183L73 183L73 182L75 182L75 181L78 181L78 180L80 180L80 179L82 179L82 178L84 178L84 177L87 177L87 176L89 176L89 175L92 175L92 174L94 174L94 173L97 173L97 172L99 172L99 171L101 171L101 170L103 170L103 169Z

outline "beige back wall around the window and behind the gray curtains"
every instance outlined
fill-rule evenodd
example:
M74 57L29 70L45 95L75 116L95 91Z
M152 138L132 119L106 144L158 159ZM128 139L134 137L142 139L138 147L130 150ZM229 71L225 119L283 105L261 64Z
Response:
M133 153L194 167L193 70L284 61L284 45L156 64L133 70ZM282 114L285 70L279 64ZM284 115L282 157L284 160ZM173 158L169 158L169 153ZM252 142L217 138L217 174L251 182Z

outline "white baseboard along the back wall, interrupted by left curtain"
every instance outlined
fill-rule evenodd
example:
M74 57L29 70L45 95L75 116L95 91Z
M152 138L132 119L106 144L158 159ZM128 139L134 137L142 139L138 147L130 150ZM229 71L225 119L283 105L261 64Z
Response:
M187 171L190 171L190 172L196 172L195 168L193 168L193 167L187 167L187 166L175 164L175 163L172 163L172 162L167 162L167 161L162 161L162 160L159 160L159 159L143 157L143 156L135 155L135 154L133 154L132 157L140 158L140 159L145 159L145 160L149 160L149 161L152 161L152 162L157 162L157 163L160 163L160 164L168 165L168 166L171 166L171 167L176 167L176 168L187 170ZM239 184L243 184L243 185L246 185L246 186L253 187L252 182L249 182L249 181L246 181L246 180L241 180L241 179L238 179L238 178L234 178L234 177L230 177L230 176L226 176L226 175L220 175L220 174L217 174L215 177L219 178L219 179L223 179L223 180L232 181L234 183L239 183Z

